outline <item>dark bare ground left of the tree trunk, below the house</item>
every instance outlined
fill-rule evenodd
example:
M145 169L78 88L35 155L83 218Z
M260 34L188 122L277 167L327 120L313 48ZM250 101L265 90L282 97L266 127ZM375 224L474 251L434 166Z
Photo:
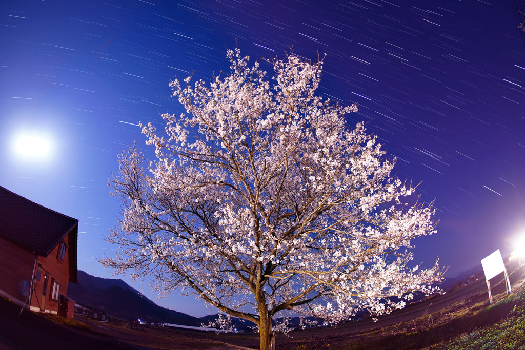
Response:
M120 320L77 319L76 325L57 324L39 313L23 310L0 297L0 350L153 350L242 349L224 343L214 332L178 331ZM80 325L80 327L78 327ZM253 336L258 345L258 335ZM232 341L230 338L229 341ZM233 344L235 343L233 340ZM251 345L251 341L248 341ZM258 347L258 346L257 346Z

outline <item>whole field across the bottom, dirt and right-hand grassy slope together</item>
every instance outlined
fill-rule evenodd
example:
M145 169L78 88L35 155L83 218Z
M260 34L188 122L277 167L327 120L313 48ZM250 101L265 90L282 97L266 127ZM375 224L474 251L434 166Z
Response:
M306 349L525 349L525 267L507 267L512 293L502 277L491 280L494 302L479 279L382 316L359 322L278 334L277 348ZM178 330L121 320L44 317L0 301L0 350L14 349L253 349L258 334Z

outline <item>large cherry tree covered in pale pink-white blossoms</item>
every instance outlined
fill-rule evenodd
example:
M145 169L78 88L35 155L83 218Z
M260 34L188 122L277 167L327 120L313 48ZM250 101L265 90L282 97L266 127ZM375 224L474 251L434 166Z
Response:
M340 322L434 292L437 261L409 264L411 240L435 232L432 204L402 201L415 188L363 123L346 124L355 104L314 94L322 59L266 60L269 78L238 49L227 57L209 85L171 82L186 114L164 114L164 133L141 124L154 161L134 146L119 157L122 217L107 237L119 248L103 265L255 323L261 349L286 330L278 315Z

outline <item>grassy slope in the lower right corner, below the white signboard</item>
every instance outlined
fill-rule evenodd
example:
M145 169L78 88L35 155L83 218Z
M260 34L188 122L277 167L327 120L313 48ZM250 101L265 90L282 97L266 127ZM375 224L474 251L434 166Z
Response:
M525 349L523 269L511 276L512 293L495 295L496 302L492 305L488 301L472 303L472 298L468 298L418 319L362 334L359 340L342 348Z

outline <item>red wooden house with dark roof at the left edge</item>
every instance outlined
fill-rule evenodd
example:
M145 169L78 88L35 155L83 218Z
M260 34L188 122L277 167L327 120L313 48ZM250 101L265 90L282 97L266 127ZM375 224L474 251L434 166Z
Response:
M0 295L33 311L72 317L78 220L0 186Z

